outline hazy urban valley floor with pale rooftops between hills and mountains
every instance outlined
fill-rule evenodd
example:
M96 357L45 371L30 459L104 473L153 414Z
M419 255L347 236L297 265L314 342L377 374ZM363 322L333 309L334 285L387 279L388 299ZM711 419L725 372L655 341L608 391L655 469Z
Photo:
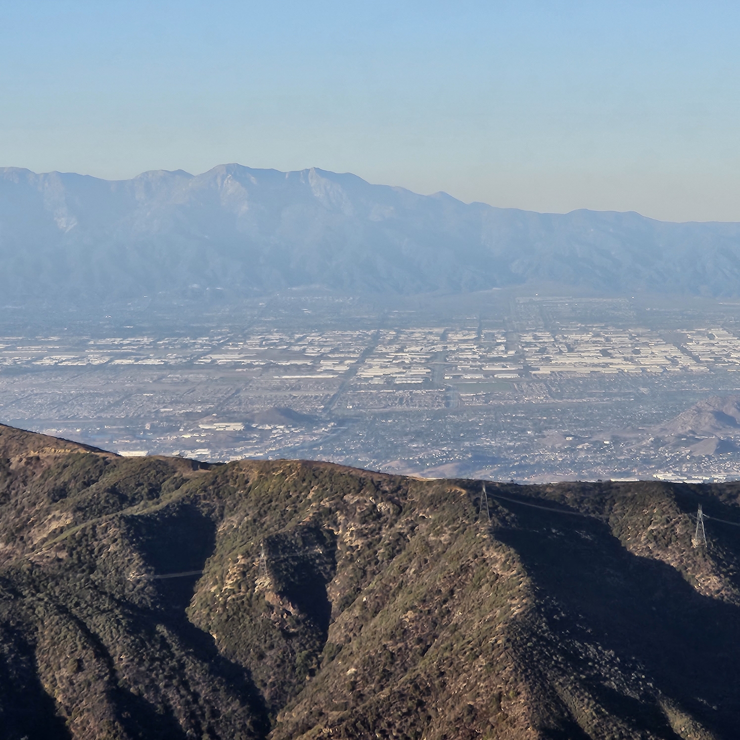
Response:
M124 455L730 480L739 309L504 291L396 303L286 292L36 323L7 309L0 418Z

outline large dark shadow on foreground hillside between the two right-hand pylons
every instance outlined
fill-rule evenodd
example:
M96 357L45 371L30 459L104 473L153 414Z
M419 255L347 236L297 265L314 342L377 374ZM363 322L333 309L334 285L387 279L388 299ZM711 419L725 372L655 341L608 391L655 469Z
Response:
M549 620L556 636L600 643L627 663L636 657L646 680L707 729L737 736L739 608L701 596L669 565L631 555L596 519L502 505L517 515L519 528L498 528L495 536L522 557L539 596L565 611L565 619ZM657 722L665 736L676 737L650 706L637 707L602 684L593 690L610 711L644 727Z

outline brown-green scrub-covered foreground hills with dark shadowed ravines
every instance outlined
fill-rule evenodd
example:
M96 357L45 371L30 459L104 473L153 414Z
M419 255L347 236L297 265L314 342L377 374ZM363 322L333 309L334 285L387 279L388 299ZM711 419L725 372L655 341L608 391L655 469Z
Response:
M740 484L486 485L0 427L2 737L735 738Z

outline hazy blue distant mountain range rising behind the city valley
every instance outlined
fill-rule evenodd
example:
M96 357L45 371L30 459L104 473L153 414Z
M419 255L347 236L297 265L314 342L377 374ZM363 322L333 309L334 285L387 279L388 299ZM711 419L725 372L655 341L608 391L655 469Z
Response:
M739 295L740 224L539 214L320 169L225 164L126 181L0 169L6 300L301 286L414 294L545 281Z

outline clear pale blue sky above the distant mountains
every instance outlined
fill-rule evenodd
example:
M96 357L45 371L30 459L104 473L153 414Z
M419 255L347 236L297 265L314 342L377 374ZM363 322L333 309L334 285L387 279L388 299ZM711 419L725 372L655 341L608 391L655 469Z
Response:
M0 0L0 166L740 221L740 4Z

